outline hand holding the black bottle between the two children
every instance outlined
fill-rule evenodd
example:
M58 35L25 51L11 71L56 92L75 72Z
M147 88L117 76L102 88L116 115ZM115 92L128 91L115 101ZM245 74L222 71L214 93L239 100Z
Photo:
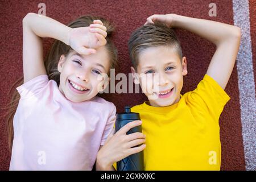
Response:
M104 169L109 168L113 163L126 158L131 154L141 152L146 147L146 136L142 133L133 133L127 135L127 131L135 126L141 125L142 121L137 120L123 126L117 133L109 135L104 146L101 147L97 155L97 163ZM141 146L138 146L142 144ZM135 147L137 146L137 147Z

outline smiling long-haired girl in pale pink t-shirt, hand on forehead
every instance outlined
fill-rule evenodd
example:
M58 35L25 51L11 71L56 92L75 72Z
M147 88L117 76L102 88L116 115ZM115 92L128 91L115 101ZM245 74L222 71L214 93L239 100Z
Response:
M112 31L94 16L68 26L34 13L24 17L23 84L8 117L11 170L93 168L115 121L115 106L96 96L117 63ZM57 40L43 61L46 37Z

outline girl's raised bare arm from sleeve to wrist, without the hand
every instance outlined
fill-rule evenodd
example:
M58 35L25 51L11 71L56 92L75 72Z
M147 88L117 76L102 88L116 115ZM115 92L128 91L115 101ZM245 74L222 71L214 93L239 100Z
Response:
M23 76L25 83L32 78L46 74L41 38L55 38L68 44L68 32L71 28L57 22L56 20L34 13L28 13L23 18L22 23Z

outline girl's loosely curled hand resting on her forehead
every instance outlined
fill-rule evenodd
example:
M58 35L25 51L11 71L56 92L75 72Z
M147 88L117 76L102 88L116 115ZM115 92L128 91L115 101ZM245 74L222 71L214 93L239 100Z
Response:
M101 20L94 20L89 27L72 28L69 45L82 55L96 53L96 48L106 44L106 27Z

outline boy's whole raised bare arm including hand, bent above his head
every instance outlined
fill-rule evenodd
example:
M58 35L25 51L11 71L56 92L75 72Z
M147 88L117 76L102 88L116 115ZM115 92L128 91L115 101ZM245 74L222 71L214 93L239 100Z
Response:
M207 75L216 80L222 89L225 89L240 45L241 29L239 27L176 14L152 15L147 22L152 23L154 20L160 20L171 27L191 31L214 43L216 51L210 61Z

